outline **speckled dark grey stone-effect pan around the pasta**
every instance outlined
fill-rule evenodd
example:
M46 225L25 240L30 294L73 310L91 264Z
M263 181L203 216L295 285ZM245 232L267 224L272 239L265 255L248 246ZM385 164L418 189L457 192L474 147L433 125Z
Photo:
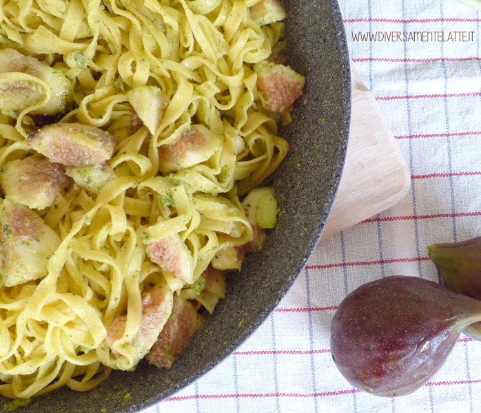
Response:
M165 399L231 354L269 315L305 266L327 221L345 160L349 57L336 0L285 0L284 4L287 63L305 75L307 83L296 103L294 122L279 132L291 151L269 182L282 199L282 214L265 248L247 258L241 273L228 276L226 298L170 370L141 363L135 372L112 372L90 392L62 388L17 412L130 413ZM125 397L127 393L130 396ZM7 402L0 400L0 409Z

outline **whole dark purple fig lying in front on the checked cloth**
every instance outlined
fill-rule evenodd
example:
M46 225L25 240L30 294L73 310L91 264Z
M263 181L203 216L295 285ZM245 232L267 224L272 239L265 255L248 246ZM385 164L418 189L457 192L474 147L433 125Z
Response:
M418 277L395 275L347 295L331 323L341 374L377 396L402 396L446 361L460 333L481 320L481 301Z

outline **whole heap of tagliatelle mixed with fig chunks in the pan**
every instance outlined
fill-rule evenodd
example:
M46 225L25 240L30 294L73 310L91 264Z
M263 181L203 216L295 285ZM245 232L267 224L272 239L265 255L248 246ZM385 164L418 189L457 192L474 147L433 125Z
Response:
M290 121L301 93L278 113L263 107L269 91L259 90L256 65L276 61L285 16L271 2L278 16L243 0L2 2L0 394L85 391L111 369L134 370L152 346L146 337L159 334L147 324L160 331L177 307L212 313L223 271L260 248L252 243L262 230L238 197L285 158L277 121ZM88 134L96 140L81 140ZM79 145L101 160L69 163ZM19 161L39 167L45 157L65 169L66 190L24 202L33 181L16 176L23 195L6 180ZM32 263L12 251L35 251ZM234 265L220 264L225 257Z

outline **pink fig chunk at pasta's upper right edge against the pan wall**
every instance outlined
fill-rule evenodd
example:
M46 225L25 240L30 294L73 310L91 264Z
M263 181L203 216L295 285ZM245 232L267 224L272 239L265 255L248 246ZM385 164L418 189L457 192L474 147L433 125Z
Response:
M289 66L262 61L254 65L257 73L257 89L261 94L264 109L283 112L290 109L294 101L303 94L304 76Z

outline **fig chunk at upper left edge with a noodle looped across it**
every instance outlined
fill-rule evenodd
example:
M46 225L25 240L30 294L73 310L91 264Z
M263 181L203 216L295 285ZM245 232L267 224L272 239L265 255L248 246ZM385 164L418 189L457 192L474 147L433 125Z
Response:
M48 103L30 112L36 124L57 120L70 109L73 100L71 84L61 70L55 70L34 57L24 56L17 50L3 49L0 51L0 73L7 72L30 74L50 85ZM14 118L23 109L40 103L45 96L45 91L39 83L25 80L6 79L0 83L0 91L0 111ZM42 118L42 116L50 116L50 118Z

